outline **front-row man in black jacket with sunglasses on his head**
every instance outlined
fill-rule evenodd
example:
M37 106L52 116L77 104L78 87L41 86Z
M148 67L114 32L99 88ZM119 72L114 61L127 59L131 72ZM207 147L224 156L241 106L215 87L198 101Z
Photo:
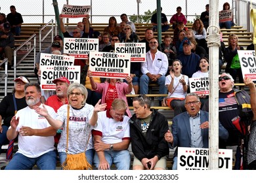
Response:
M133 98L130 135L134 154L133 170L165 170L169 147L164 139L168 123L157 110L150 110L150 99L144 95Z

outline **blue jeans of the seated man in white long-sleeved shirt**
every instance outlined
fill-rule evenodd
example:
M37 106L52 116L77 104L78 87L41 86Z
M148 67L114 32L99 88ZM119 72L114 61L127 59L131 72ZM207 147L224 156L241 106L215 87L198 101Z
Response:
M148 84L152 81L147 75L140 76L140 94L148 94ZM159 85L159 94L167 94L165 86L165 75L158 78L156 83ZM159 97L159 101L163 101L163 97Z

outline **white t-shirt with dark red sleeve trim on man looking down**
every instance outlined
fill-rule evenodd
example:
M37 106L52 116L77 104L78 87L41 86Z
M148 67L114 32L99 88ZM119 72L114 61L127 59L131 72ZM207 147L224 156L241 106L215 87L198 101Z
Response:
M130 138L129 117L124 116L123 122L116 122L106 116L107 111L98 112L98 126L94 129L102 132L101 141L106 144L116 144L124 138Z

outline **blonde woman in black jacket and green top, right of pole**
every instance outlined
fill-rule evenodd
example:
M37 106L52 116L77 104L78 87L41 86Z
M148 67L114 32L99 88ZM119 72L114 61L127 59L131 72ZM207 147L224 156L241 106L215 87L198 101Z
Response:
M243 83L244 79L238 58L238 50L244 50L244 48L238 45L238 36L230 34L228 36L228 47L224 50L225 72L230 73L232 78L234 78L234 82L236 82L236 76L238 76L239 83Z

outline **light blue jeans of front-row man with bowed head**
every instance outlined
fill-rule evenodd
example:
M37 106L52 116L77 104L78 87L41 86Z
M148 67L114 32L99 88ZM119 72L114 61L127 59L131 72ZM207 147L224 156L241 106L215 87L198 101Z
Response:
M131 164L131 156L129 150L105 150L104 155L106 161L110 167L112 163L114 163L117 167L117 170L129 170ZM95 167L98 169L98 165L100 164L100 159L98 159L98 154L95 153L95 158L93 159L93 163Z

